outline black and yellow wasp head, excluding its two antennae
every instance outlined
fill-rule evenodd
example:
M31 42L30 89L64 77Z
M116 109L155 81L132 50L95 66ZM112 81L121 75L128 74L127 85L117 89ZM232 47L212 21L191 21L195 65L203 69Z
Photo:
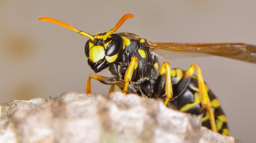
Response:
M103 40L106 33L94 36L94 41L89 39L85 44L87 62L95 73L102 71L114 64L124 53L125 44L119 34L112 34Z

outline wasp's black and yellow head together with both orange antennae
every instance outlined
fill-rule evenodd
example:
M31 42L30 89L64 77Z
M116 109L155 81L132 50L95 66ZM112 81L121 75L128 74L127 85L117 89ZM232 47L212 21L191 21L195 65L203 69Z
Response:
M128 18L133 17L134 15L132 14L125 14L113 29L107 33L100 33L94 36L52 17L42 16L38 20L63 26L88 37L89 40L85 44L85 55L87 56L89 66L94 72L99 72L114 64L123 55L125 49L124 40L119 34L115 34L115 32Z

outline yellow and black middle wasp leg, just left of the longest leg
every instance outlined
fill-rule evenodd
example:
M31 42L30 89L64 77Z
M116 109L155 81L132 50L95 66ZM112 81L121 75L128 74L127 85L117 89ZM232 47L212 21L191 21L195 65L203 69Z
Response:
M160 69L157 82L154 88L155 96L159 96L164 88L165 84L165 95L166 99L164 101L164 105L166 106L168 101L173 96L172 91L172 80L171 80L171 67L168 62L163 62L162 67Z

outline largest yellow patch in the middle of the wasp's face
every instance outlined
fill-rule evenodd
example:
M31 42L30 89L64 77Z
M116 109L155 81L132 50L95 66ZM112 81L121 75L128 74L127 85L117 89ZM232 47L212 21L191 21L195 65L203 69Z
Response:
M102 46L93 46L89 50L89 58L92 60L94 63L99 61L100 59L103 59L105 56L105 50L104 47Z

